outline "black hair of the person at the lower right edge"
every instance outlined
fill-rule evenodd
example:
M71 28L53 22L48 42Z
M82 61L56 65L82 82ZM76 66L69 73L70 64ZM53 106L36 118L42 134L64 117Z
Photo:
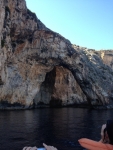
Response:
M113 145L113 120L107 120L106 130L110 140L110 144Z

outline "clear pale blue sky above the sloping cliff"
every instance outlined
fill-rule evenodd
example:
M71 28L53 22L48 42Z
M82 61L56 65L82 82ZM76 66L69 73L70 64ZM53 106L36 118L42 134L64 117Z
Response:
M113 0L26 0L49 29L72 44L113 49Z

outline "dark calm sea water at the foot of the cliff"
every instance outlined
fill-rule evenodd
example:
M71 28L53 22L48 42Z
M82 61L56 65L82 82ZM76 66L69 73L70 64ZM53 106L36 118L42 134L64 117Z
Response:
M0 150L42 147L45 142L59 150L83 150L77 140L100 139L100 129L113 110L82 108L0 111Z

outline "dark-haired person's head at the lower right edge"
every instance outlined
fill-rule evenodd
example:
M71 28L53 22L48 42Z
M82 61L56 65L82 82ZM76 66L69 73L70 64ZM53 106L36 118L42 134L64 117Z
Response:
M113 145L113 120L107 120L107 123L102 125L101 136L104 143Z

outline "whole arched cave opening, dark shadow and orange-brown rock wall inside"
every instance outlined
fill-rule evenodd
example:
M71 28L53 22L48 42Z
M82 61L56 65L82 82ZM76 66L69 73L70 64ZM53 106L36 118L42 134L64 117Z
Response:
M50 106L87 104L86 96L72 73L58 66L46 74L34 102L37 106L41 103L50 104Z

